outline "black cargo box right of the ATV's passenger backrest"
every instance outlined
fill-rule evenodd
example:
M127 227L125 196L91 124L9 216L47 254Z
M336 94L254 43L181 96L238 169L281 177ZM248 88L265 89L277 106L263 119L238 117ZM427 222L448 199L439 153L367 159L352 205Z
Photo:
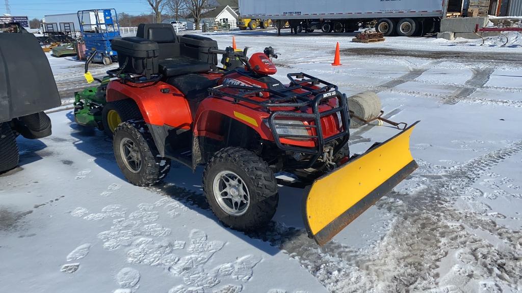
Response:
M206 36L194 34L184 34L179 36L178 40L180 41L181 55L198 59L212 65L218 64L216 54L208 53L210 48L218 48L218 42Z

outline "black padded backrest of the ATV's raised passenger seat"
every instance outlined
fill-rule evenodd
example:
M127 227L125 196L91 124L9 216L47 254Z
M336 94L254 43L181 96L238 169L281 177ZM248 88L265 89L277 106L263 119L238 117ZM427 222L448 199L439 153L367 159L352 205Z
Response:
M158 43L160 59L180 56L180 43L170 23L141 23L136 36Z

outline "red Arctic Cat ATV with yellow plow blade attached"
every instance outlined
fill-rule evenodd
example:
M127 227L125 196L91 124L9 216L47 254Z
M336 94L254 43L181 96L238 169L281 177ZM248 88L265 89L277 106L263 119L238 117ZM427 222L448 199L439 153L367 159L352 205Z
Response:
M120 68L77 94L77 121L110 127L116 162L135 185L159 182L171 160L204 165L210 207L234 229L266 225L278 185L300 187L307 231L324 245L417 168L413 125L350 156L346 95L302 72L288 84L272 78L271 47L248 58L246 49L218 50L209 38L142 24L113 48Z

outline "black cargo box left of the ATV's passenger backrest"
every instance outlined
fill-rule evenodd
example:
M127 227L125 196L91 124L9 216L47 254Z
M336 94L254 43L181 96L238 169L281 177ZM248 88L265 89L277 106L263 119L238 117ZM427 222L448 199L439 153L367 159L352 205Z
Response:
M112 50L118 53L118 64L123 72L150 78L158 74L158 43L137 36L112 41Z

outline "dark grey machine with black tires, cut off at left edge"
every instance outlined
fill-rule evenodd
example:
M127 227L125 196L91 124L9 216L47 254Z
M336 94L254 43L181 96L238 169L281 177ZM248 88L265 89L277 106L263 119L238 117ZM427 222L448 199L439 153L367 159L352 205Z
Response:
M49 61L34 34L0 24L0 173L18 165L16 137L51 135L46 109L61 105Z

